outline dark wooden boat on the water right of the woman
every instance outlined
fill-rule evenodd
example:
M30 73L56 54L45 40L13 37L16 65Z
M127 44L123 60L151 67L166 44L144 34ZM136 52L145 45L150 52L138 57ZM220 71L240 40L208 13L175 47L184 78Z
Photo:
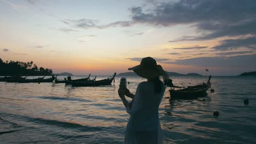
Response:
M202 85L196 85L196 86L188 86L187 88L185 87L177 87L173 86L169 90L171 99L189 99L189 98L196 98L196 97L203 97L206 96L207 89L211 87L211 76L209 76L208 81L205 83L203 82ZM181 89L174 89L174 88L181 88Z

